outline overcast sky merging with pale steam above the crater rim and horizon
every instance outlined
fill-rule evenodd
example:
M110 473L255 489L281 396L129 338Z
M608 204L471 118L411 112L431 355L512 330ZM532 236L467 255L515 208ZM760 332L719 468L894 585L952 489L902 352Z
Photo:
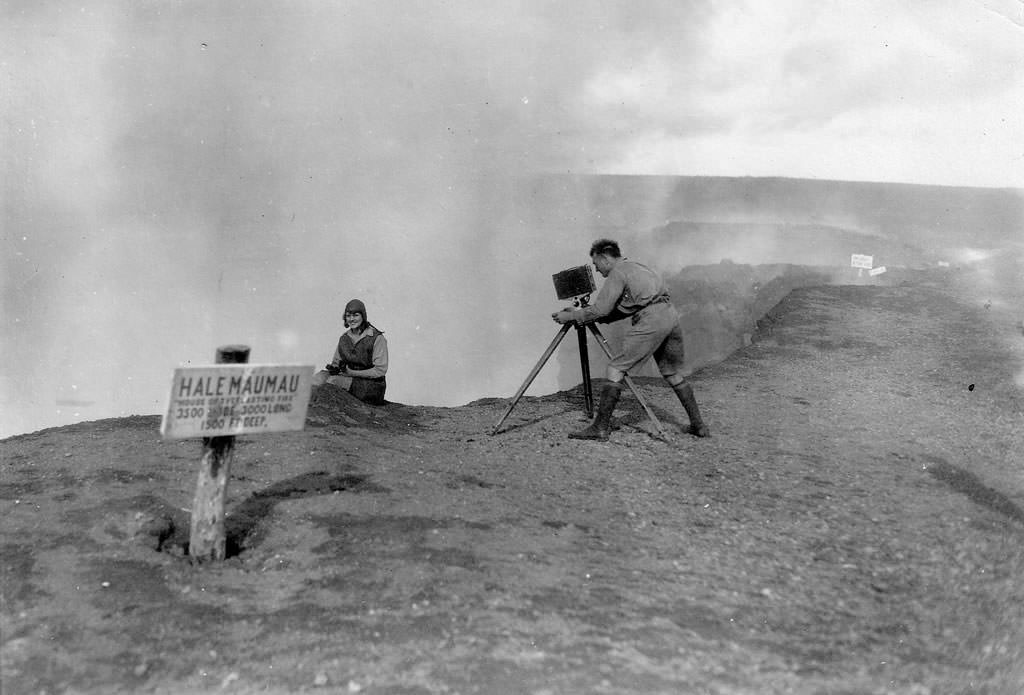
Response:
M460 366L517 339L474 278L586 260L508 243L509 179L1024 187L1024 4L7 0L0 113L0 436L217 344L319 365L352 297L455 404L522 371Z

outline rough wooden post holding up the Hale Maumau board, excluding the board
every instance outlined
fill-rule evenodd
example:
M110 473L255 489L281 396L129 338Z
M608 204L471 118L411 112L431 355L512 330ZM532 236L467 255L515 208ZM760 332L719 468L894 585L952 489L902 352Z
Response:
M244 364L248 361L247 345L217 348L218 364ZM188 540L188 557L193 563L224 559L224 503L227 498L227 477L233 452L233 436L203 438L203 462L200 464L196 497L193 499Z

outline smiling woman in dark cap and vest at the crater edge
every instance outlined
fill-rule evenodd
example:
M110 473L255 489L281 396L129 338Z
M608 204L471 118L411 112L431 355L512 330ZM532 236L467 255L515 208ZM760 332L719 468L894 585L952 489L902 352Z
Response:
M367 403L384 402L387 382L387 341L367 320L367 306L357 299L345 305L345 328L338 339L334 359L313 375L313 385L332 384Z

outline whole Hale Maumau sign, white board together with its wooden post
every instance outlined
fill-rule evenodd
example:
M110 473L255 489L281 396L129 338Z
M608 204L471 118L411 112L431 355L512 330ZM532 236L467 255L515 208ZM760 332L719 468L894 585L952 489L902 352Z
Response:
M223 560L224 503L234 435L301 430L312 365L249 364L249 347L217 348L217 366L174 371L161 422L165 439L203 438L188 556L194 563Z

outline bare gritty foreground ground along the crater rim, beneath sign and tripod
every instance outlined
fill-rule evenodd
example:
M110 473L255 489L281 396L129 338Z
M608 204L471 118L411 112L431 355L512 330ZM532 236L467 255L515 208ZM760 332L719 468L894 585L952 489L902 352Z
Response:
M964 271L966 273L967 271ZM898 281L897 281L898 280ZM185 555L197 441L0 441L4 693L1024 692L1020 317L952 270L795 291L611 441L580 391L317 391L240 437L230 557ZM970 285L970 287L975 287Z

